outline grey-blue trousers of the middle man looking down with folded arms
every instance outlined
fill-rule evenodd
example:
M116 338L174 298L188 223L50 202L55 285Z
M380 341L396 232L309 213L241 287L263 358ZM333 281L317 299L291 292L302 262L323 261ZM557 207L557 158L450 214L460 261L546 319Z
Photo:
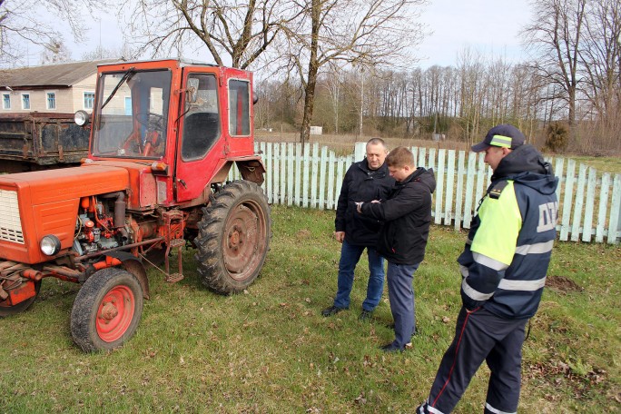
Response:
M414 272L419 264L396 264L389 262L388 282L389 301L392 319L395 320L395 340L392 342L400 349L411 340L416 328L414 305Z

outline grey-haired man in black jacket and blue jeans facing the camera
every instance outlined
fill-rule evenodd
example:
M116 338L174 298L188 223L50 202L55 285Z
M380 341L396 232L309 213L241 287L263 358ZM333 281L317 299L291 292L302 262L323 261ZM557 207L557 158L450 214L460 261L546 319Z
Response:
M384 259L375 250L375 244L381 222L360 216L356 212L355 202L386 199L390 187L395 182L389 176L384 163L387 153L384 141L372 138L367 143L367 157L359 163L352 164L345 173L334 221L334 236L342 243L338 291L332 306L321 311L323 316L331 316L350 308L354 269L364 249L367 249L369 256L370 275L367 299L362 302L360 320L369 320L371 313L380 303L381 293L384 290Z

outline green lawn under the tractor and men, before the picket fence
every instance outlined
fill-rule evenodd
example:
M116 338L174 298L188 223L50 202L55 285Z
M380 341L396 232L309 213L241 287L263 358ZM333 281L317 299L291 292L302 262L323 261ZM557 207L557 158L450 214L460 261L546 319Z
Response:
M78 286L44 280L30 310L0 320L0 412L412 412L452 339L465 235L431 229L415 274L421 334L413 350L383 355L378 346L393 338L387 294L371 323L357 319L366 261L351 310L320 316L336 290L334 212L274 207L272 217L268 260L247 292L203 289L187 251L183 281L149 270L140 328L109 353L74 346ZM524 346L520 412L618 412L620 274L619 247L557 243L557 287ZM481 412L487 380L482 368L455 412Z

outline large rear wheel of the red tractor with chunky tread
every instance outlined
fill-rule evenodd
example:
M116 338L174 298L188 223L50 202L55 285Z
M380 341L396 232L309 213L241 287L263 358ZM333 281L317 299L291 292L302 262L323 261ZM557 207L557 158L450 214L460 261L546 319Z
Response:
M270 247L270 206L261 187L238 180L202 209L195 259L202 283L223 294L243 291L257 278Z

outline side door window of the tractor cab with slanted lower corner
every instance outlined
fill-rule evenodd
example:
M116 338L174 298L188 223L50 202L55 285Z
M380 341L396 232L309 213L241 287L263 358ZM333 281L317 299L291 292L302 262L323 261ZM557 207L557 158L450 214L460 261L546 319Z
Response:
M186 87L182 160L200 160L220 138L217 82L212 74L190 74Z

